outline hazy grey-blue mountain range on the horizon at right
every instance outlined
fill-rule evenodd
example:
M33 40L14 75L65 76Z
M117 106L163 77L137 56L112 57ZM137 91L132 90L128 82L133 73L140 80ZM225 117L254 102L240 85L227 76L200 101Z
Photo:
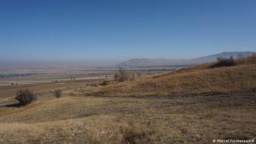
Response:
M139 67L139 66L153 66L153 65L182 65L182 64L202 64L205 62L216 61L217 57L229 58L233 56L234 58L238 58L237 54L243 54L244 56L251 56L256 52L223 52L218 53L206 57L194 58L192 60L186 59L148 59L148 58L133 58L128 61L121 62L119 64L114 65L115 67Z

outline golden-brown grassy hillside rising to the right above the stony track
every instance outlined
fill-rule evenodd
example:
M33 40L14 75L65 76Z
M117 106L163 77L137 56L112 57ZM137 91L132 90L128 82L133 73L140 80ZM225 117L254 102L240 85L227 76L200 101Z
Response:
M236 59L236 66L211 68L216 62L144 76L82 91L94 96L171 96L256 91L256 56Z

